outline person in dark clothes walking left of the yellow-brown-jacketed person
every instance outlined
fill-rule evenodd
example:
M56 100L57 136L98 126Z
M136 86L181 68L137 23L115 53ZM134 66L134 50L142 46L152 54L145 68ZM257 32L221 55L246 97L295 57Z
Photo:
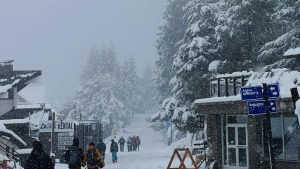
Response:
M83 159L83 149L79 147L79 139L74 138L72 146L65 153L69 169L80 169Z

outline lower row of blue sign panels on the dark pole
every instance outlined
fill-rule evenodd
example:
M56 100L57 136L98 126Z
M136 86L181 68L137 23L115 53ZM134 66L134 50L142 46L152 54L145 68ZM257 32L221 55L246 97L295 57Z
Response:
M269 100L269 112L276 113L276 100ZM249 115L266 114L265 101L264 100L249 101L248 114Z

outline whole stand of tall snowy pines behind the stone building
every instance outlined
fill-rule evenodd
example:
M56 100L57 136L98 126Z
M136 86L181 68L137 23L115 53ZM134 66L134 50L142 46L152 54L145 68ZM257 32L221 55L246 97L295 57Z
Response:
M283 56L300 46L299 8L299 0L169 0L157 40L161 110L152 120L172 121L174 137L184 137L196 131L193 102L209 97L214 75L300 70L295 58Z

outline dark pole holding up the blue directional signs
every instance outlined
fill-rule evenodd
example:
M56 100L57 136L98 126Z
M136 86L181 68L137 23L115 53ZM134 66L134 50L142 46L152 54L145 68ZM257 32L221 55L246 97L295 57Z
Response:
M275 159L274 159L275 152L273 151L273 144L272 144L272 128L271 128L271 118L270 118L270 111L269 111L270 105L269 105L269 96L267 90L268 90L267 84L263 83L263 97L266 105L266 118L267 118L266 129L268 133L270 167L271 169L275 169L276 168Z

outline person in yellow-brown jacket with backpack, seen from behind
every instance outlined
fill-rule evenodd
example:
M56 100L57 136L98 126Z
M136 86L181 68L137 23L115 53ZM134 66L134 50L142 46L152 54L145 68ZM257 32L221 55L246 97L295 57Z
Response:
M88 169L98 169L105 166L104 160L95 143L90 142L88 150L83 158L83 167L87 165Z

